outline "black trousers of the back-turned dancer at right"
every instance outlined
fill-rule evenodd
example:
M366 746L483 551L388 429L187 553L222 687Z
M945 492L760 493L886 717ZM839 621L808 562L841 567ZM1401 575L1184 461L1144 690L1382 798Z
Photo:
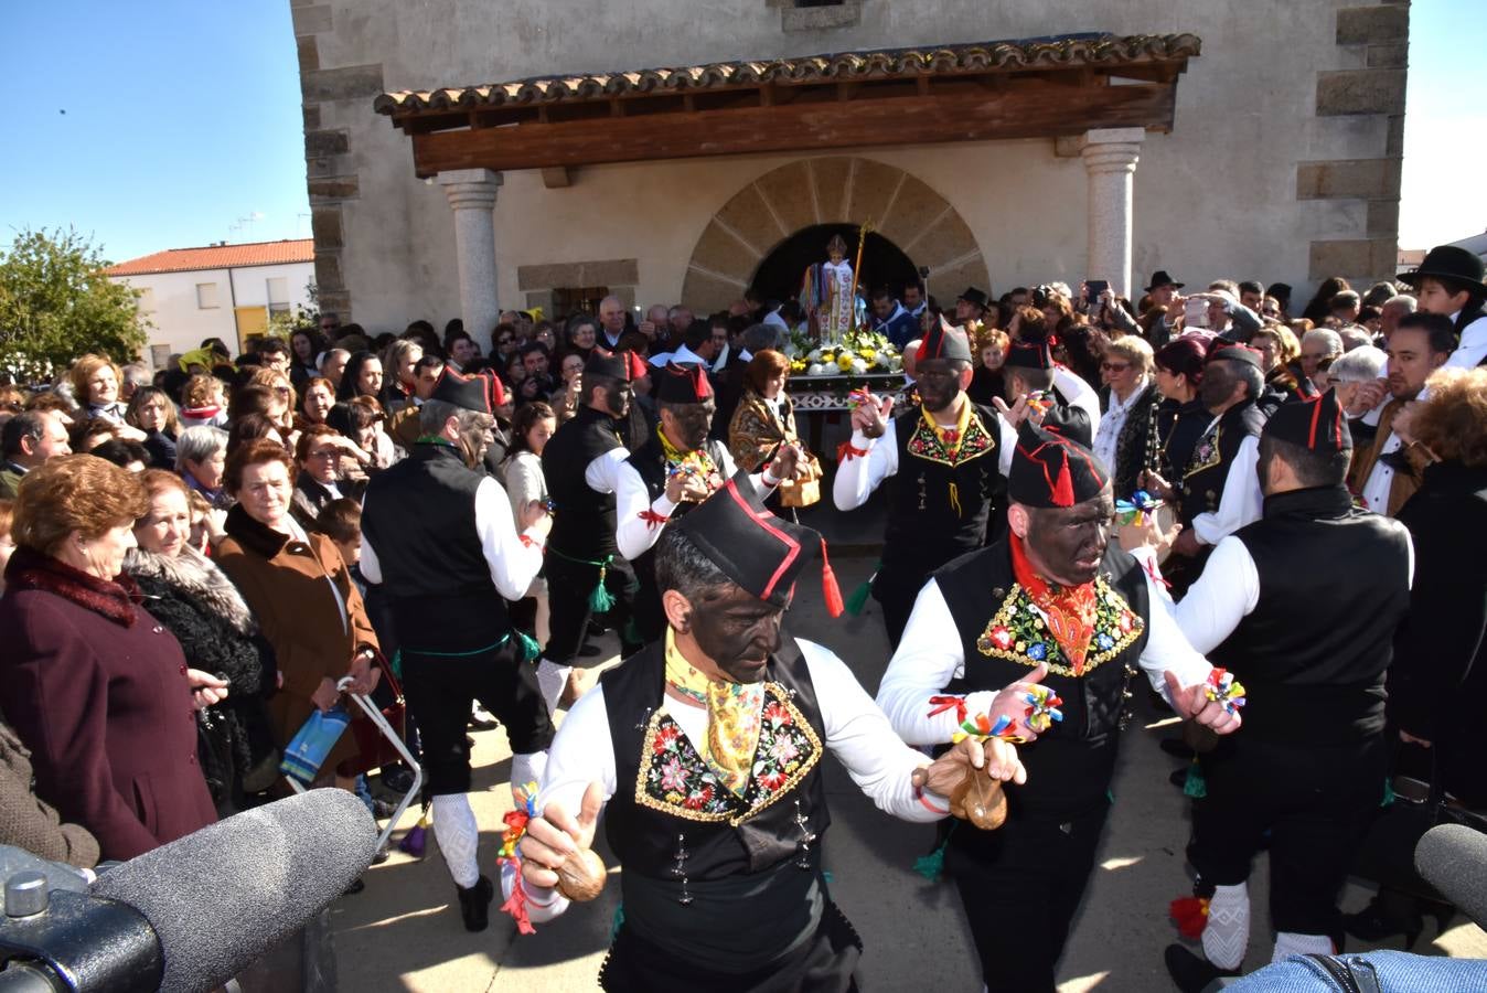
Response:
M1268 831L1276 931L1337 939L1343 931L1337 896L1383 801L1383 736L1343 745L1225 737L1199 761L1207 795L1193 803L1188 861L1201 882L1248 880Z

